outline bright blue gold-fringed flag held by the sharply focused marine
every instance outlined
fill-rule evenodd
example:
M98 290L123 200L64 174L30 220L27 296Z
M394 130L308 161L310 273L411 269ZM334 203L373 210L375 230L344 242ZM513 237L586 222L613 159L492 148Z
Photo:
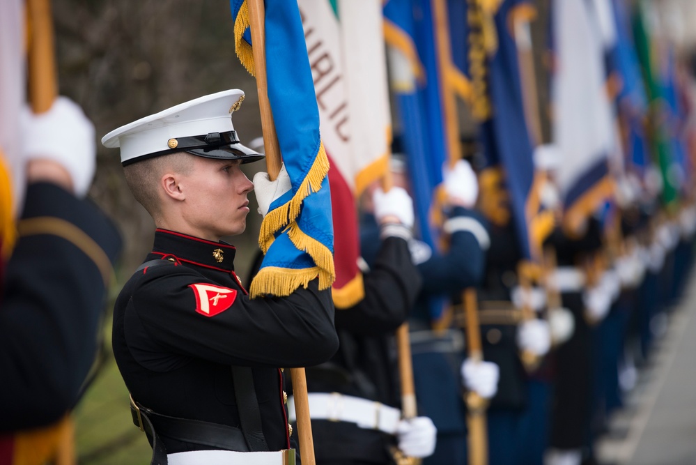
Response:
M254 75L247 0L231 0L235 48ZM261 223L258 243L265 257L250 294L287 296L318 277L320 289L334 281L333 226L319 113L297 2L265 0L268 99L292 189L274 201Z

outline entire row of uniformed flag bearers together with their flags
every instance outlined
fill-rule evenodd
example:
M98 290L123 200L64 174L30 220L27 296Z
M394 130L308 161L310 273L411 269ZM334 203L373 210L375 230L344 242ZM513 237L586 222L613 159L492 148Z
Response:
M696 81L675 16L642 0L230 6L263 144L233 128L238 89L101 139L157 227L112 335L150 462L596 463L690 269ZM1 11L0 59L23 70L22 2ZM0 463L68 464L120 239L82 211L91 123L54 87L30 111L25 81L0 81ZM242 165L264 158L250 181ZM228 241L252 191L242 282Z

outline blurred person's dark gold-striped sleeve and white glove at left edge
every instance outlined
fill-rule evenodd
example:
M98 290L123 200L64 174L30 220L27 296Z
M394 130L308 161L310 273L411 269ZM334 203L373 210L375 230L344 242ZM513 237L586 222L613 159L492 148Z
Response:
M55 453L55 422L79 399L121 238L84 199L95 142L82 109L59 97L48 112L25 107L15 118L2 123L20 126L14 137L22 140L26 191L19 237L1 273L0 463L31 464ZM36 427L44 429L30 430Z

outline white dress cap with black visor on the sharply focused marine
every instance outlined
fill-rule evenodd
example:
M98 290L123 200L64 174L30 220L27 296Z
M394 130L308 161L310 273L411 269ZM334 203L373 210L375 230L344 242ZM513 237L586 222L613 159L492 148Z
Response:
M133 121L102 137L102 144L121 148L121 163L185 151L206 158L256 161L263 155L239 143L232 112L244 92L231 89L181 103Z

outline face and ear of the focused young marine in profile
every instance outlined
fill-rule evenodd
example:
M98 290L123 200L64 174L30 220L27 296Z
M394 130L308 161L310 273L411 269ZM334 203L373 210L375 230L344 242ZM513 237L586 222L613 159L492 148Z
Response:
M182 178L185 215L194 234L218 241L242 234L247 227L252 181L240 169L240 160L192 157L193 169Z

